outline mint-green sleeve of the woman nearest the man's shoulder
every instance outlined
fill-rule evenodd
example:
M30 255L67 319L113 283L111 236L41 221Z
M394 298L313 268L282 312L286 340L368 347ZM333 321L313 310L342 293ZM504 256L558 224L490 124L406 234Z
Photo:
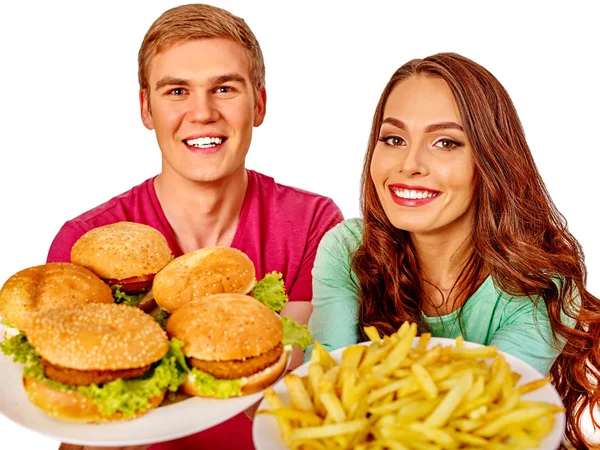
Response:
M351 271L351 252L357 247L347 223L325 235L313 268L313 312L308 322L312 338L327 351L358 342L358 284ZM310 360L310 345L304 360Z

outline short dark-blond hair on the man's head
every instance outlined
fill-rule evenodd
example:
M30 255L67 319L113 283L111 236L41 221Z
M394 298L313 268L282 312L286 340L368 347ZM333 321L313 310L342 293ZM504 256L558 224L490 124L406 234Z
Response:
M265 62L256 36L244 19L211 5L190 4L165 11L147 31L138 53L138 80L148 89L152 58L173 45L192 39L225 38L240 43L248 54L256 91L265 86Z

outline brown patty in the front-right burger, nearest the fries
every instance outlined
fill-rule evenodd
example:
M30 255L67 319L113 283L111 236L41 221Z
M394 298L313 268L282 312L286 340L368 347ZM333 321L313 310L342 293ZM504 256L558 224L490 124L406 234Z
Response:
M267 367L273 365L281 357L283 345L281 342L272 350L262 355L245 360L236 359L233 361L203 361L201 359L189 358L192 367L202 372L225 380L234 380L236 378L249 377Z

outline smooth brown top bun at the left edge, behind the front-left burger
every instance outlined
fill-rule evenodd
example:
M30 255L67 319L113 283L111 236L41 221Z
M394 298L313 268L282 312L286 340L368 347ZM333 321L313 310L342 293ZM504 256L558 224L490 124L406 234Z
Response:
M0 315L22 330L31 313L86 303L113 303L110 288L88 269L70 263L29 267L11 276L0 290Z

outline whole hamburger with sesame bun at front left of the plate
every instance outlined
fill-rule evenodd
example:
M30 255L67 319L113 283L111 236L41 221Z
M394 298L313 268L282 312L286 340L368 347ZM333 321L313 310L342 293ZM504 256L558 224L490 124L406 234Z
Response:
M29 316L25 336L5 341L2 351L25 365L29 400L61 420L138 417L183 382L181 343L170 344L138 308L88 303L44 310Z

